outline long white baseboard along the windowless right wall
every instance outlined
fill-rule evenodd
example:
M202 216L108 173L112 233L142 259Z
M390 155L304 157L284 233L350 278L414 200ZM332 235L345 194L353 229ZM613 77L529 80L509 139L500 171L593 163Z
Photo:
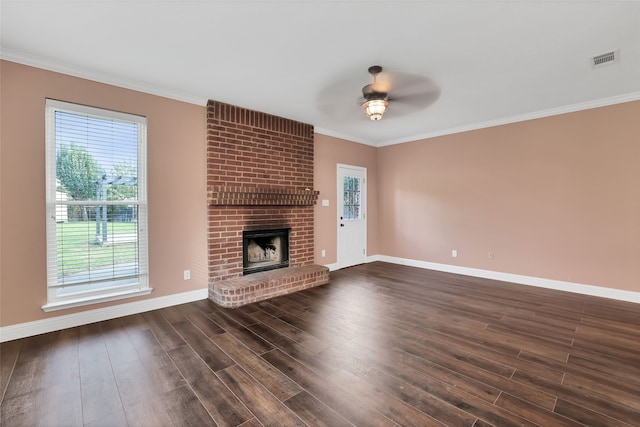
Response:
M591 295L591 296L601 297L601 298L610 298L610 299L616 299L616 300L634 302L634 303L640 304L640 292L605 288L602 286L594 286L594 285L583 285L580 283L544 279L541 277L522 276L520 274L501 273L499 271L482 270L479 268L460 267L457 265L417 261L417 260L406 259L406 258L390 257L386 255L374 255L371 257L367 257L367 262L374 262L374 261L384 261L392 264L408 265L411 267L425 268L428 270L463 274L465 276L482 277L484 279L500 280L503 282L518 283L521 285L528 285L528 286L537 286L540 288L555 289L558 291L573 292L577 294Z

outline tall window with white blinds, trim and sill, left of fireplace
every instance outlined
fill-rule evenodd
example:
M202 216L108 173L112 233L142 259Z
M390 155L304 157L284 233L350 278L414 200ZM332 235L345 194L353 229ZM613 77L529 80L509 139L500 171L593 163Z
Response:
M46 103L45 311L151 292L146 119Z

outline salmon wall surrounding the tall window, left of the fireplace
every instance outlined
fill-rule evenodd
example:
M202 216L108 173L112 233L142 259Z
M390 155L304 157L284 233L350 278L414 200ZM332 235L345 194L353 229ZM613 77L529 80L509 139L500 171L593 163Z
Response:
M0 326L207 288L205 109L0 61ZM45 98L147 117L146 297L44 313ZM183 280L183 270L191 280Z

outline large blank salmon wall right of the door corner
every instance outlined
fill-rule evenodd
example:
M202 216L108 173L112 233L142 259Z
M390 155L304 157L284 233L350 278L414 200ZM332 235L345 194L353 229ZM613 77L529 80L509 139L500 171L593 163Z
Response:
M381 255L640 291L639 101L377 155Z

